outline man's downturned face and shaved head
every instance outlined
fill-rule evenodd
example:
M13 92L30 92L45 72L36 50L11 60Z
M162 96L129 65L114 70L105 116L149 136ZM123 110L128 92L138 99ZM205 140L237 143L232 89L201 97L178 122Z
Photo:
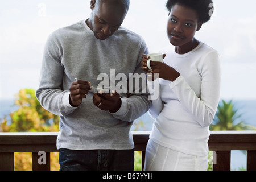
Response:
M112 36L123 23L127 9L118 1L91 1L92 15L89 28L97 39L105 40Z

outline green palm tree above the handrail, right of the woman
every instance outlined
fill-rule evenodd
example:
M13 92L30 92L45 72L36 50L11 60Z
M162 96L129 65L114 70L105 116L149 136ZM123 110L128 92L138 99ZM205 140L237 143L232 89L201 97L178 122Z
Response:
M238 114L232 100L218 105L217 113L214 117L216 124L210 125L210 130L255 130L254 126L246 125L241 119L242 114ZM237 124L235 124L238 122Z

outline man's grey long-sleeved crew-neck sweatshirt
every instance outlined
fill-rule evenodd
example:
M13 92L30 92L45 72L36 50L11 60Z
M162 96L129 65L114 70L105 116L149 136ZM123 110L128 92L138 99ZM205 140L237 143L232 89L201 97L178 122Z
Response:
M36 97L44 109L60 115L58 149L134 148L130 127L134 119L149 109L151 102L147 94L121 93L121 108L112 114L93 105L91 92L79 107L72 107L69 87L75 78L97 87L102 82L97 80L102 73L109 79L109 85L120 82L115 78L119 73L127 79L129 73L140 75L142 55L147 53L146 43L134 32L120 27L110 38L98 40L85 20L49 35ZM113 71L115 76L111 77Z

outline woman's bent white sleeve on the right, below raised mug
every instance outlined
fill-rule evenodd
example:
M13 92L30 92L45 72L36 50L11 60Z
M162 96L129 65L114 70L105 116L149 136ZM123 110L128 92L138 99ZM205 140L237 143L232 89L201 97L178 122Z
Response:
M204 57L201 67L201 94L200 98L187 84L181 75L169 86L176 94L184 107L195 117L202 126L209 126L217 111L220 99L221 59L217 51L212 51Z

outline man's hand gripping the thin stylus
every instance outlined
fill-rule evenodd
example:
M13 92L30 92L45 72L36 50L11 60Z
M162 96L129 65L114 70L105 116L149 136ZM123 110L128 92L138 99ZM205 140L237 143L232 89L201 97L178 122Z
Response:
M85 80L76 80L72 82L69 88L69 102L72 106L79 106L82 102L82 99L86 98L88 95L88 90L91 90L90 82Z

